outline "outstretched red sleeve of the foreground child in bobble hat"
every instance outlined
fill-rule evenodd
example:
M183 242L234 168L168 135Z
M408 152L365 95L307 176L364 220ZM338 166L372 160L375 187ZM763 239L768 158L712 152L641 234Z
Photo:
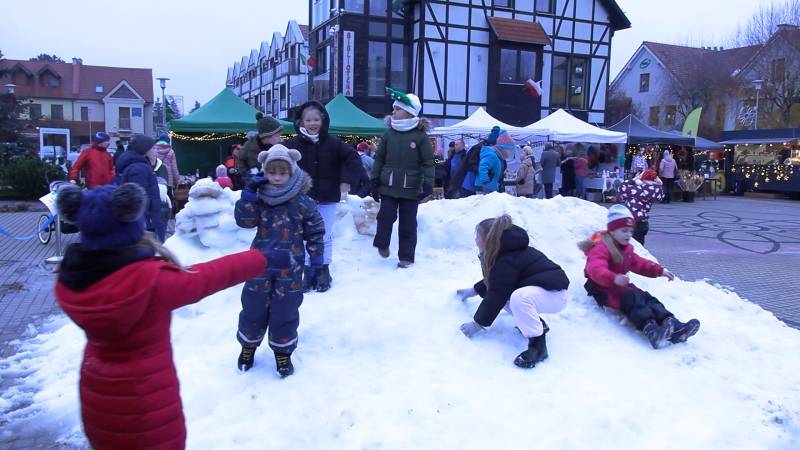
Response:
M162 270L156 298L168 309L197 303L262 272L267 261L258 250L247 250L192 266L187 272Z

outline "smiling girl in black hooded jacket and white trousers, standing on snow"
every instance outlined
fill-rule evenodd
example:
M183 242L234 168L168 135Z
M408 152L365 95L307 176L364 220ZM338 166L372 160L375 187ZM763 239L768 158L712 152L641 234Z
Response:
M308 195L317 201L325 222L325 255L320 270L313 270L306 261L303 291L325 292L331 288L329 265L333 255L333 224L336 220L336 203L357 189L363 173L361 158L353 147L338 137L328 134L330 117L322 103L310 101L303 104L294 122L297 136L285 145L297 149L302 155L298 165L311 176L313 186ZM354 192L355 193L355 192Z

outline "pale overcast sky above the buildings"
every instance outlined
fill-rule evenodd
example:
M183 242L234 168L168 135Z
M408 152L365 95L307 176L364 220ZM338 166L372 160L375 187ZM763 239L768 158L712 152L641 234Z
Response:
M612 44L612 77L643 40L719 45L760 4L771 0L617 0L633 24ZM308 23L305 0L8 1L3 5L0 50L9 59L39 53L84 64L152 68L168 77L167 95L183 95L190 109L225 86L228 66L290 19ZM161 95L157 82L157 92Z

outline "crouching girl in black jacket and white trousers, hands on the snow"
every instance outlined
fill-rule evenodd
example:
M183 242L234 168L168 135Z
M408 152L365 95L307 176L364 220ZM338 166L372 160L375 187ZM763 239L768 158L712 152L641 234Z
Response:
M549 331L540 313L554 314L567 304L569 279L558 264L528 246L528 232L511 223L507 215L483 220L475 227L483 280L457 293L462 300L483 297L473 322L461 325L471 338L505 310L514 316L517 328L528 338L528 349L514 360L529 369L547 359L545 334Z

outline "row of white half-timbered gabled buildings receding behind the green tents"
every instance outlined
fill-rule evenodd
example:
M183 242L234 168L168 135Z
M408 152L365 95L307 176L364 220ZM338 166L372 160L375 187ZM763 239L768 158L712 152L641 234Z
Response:
M228 68L226 85L257 110L290 119L308 101L308 26L289 21L258 50Z

